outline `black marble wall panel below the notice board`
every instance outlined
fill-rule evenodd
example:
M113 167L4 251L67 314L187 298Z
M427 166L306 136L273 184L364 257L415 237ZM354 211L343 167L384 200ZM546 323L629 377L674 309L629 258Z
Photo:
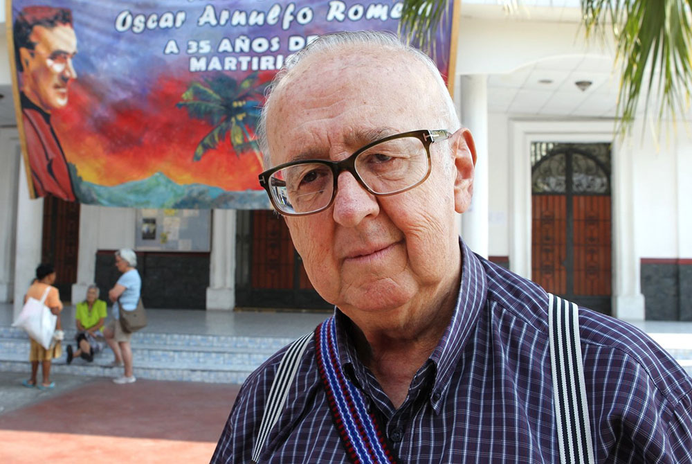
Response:
M209 253L137 253L145 307L204 310L209 260ZM95 281L105 300L120 276L114 262L112 252L96 254Z

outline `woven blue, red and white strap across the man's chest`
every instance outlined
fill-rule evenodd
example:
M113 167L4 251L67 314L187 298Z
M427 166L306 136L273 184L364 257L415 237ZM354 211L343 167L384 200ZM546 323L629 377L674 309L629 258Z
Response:
M318 326L315 338L320 377L349 459L354 464L395 463L374 414L367 412L363 394L341 371L334 317Z

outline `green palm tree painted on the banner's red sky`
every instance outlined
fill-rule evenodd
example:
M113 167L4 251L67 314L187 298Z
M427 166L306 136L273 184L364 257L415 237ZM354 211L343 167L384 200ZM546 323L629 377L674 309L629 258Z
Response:
M217 73L204 82L192 82L177 107L186 108L191 118L201 119L214 128L201 139L194 150L193 161L199 161L208 150L228 139L236 156L252 151L259 157L254 127L260 118L260 105L266 84L257 84L257 73L242 82Z

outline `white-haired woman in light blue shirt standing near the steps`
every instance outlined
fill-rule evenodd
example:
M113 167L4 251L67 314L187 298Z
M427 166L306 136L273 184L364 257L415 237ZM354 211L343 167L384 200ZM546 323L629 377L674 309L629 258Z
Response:
M116 267L122 273L116 285L108 292L108 298L113 302L113 319L106 326L104 336L108 346L113 350L115 359L111 366L125 366L125 375L116 377L116 384L131 384L137 379L132 373L132 348L130 339L132 334L122 330L120 325L120 311L134 311L139 302L142 289L142 279L135 269L137 255L129 248L116 251Z

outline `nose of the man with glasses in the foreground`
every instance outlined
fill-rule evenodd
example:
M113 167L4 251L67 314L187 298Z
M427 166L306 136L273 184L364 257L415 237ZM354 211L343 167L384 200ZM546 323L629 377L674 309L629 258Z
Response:
M379 203L350 172L341 172L334 197L334 221L345 227L357 226L365 217L377 215Z

